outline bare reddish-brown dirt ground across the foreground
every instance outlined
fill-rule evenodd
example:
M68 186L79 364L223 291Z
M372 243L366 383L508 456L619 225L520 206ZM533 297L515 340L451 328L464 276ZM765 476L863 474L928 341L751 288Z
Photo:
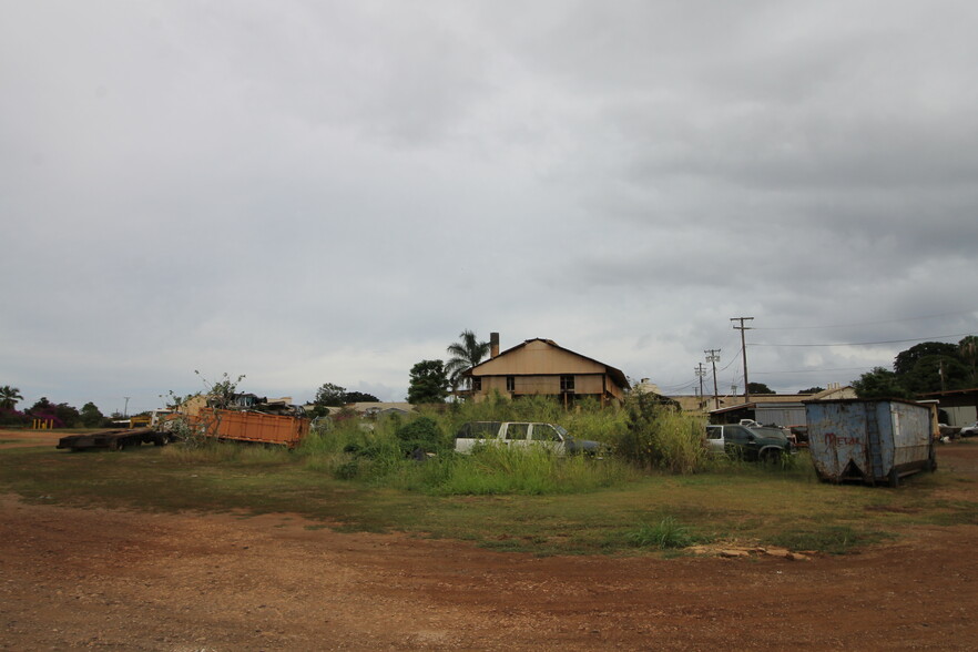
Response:
M978 447L939 461L978 477ZM0 496L0 649L978 648L976 526L808 561L541 559L309 526Z

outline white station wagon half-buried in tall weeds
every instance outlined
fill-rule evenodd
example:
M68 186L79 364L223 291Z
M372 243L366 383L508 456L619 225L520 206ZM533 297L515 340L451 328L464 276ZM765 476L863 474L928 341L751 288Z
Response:
M589 439L577 439L556 424L530 421L470 421L455 436L455 450L469 454L477 446L540 446L557 455L603 456L609 447Z

